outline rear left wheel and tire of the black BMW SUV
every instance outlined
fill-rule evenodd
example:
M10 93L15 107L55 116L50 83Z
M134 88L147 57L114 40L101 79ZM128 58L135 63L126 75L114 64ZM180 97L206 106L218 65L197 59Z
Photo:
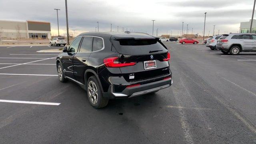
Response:
M96 76L91 76L86 85L87 96L90 104L94 108L103 108L107 106L108 99L103 98L102 90Z

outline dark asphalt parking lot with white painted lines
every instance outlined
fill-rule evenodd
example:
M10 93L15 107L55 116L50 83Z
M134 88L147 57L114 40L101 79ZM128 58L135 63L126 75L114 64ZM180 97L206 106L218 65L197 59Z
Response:
M0 47L0 143L255 144L256 52L164 44L172 86L102 109L59 82L58 53L36 52L55 46Z

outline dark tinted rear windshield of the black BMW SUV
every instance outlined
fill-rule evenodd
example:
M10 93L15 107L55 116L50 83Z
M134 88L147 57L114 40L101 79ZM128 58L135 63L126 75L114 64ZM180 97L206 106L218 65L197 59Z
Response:
M120 54L141 55L167 52L167 48L158 39L120 39L112 40Z

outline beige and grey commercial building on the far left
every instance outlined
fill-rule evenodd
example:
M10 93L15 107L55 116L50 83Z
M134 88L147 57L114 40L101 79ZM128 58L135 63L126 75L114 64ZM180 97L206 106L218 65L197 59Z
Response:
M1 38L51 39L50 22L0 20Z

